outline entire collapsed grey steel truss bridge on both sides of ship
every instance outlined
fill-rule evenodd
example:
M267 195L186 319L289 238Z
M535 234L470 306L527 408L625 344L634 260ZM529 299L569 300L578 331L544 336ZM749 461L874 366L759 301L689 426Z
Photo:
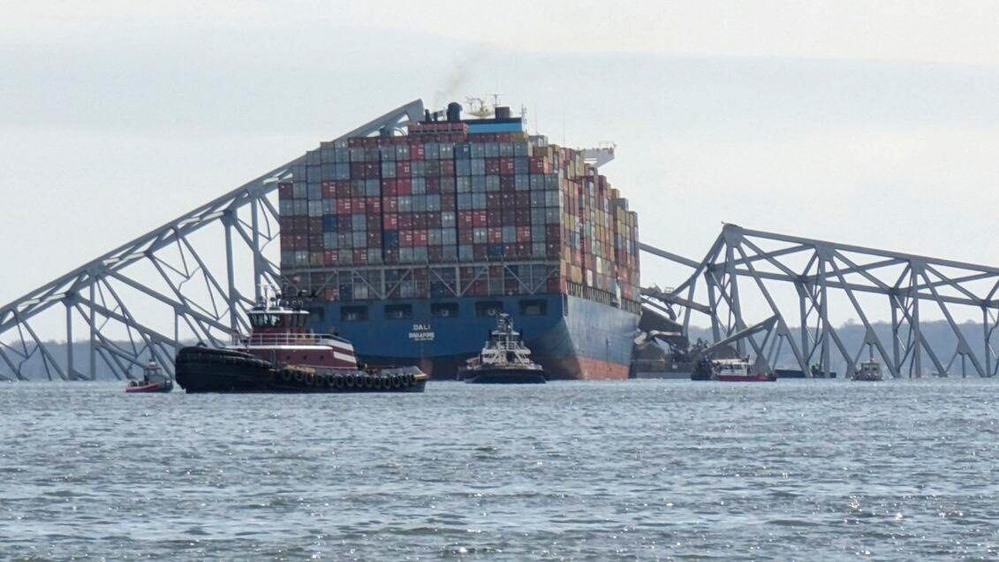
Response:
M340 139L385 134L423 115L416 100ZM225 343L247 328L242 311L259 300L262 286L293 284L277 264L275 199L278 182L304 158L0 307L0 379L134 378L149 361L172 373L174 353L185 342ZM692 270L675 288L643 291L645 300L685 330L702 315L715 342L746 333L735 340L739 352L751 349L770 365L783 353L803 373L827 374L843 364L849 374L866 351L896 377L930 372L926 362L940 374L991 377L999 369L992 345L999 268L735 225L722 229L699 262L641 249ZM859 319L861 341L842 334L834 310ZM942 318L951 349L930 345L921 323L927 310ZM976 322L960 322L969 310ZM890 324L877 317L890 317ZM40 338L42 325L63 334L61 342Z

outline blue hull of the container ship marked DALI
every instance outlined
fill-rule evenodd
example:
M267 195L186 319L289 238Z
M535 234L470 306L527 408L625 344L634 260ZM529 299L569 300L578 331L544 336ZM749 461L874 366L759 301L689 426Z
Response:
M525 301L532 306L525 309ZM456 309L432 314L431 305L441 303ZM486 306L490 303L498 305L491 307L492 314ZM394 314L406 307L407 315ZM639 319L632 312L564 294L328 302L309 308L313 329L346 337L361 361L414 365L436 379L457 378L459 366L479 353L496 325L497 308L511 316L549 379L625 379ZM357 314L361 309L363 314Z

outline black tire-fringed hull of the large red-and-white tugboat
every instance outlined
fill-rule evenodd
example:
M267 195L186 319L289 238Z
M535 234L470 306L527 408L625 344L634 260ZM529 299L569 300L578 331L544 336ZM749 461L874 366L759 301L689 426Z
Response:
M249 353L184 347L177 352L175 380L187 393L423 392L427 375L415 367L350 369L278 367Z

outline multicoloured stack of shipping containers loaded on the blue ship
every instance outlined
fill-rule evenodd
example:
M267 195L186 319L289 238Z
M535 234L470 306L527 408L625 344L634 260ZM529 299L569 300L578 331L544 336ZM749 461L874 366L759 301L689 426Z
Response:
M426 122L309 152L279 186L285 276L341 302L567 292L637 312L627 200L582 152L488 130Z

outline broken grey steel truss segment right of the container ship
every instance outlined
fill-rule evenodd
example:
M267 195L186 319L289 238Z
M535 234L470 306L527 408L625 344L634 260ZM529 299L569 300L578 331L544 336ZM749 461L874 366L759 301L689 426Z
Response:
M865 351L893 377L930 372L992 377L999 369L994 349L999 268L732 224L725 225L700 263L673 261L694 272L668 291L671 306L706 302L680 305L685 330L698 311L708 311L714 341L745 330L749 317L775 316L770 347L748 337L737 342L739 352L748 345L758 356L773 357L787 346L806 375L829 374L835 362L850 376ZM890 318L890 325L875 321L879 315ZM951 342L947 349L927 338L931 317L938 320L934 330L944 326L934 340ZM843 323L858 321L863 338L851 341Z

